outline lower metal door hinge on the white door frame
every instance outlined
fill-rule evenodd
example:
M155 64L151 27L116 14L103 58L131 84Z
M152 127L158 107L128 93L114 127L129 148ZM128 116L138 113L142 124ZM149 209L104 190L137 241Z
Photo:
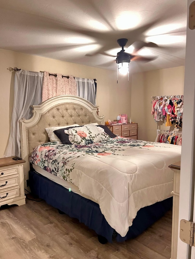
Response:
M180 221L180 239L189 244L191 247L194 246L194 222L181 220Z

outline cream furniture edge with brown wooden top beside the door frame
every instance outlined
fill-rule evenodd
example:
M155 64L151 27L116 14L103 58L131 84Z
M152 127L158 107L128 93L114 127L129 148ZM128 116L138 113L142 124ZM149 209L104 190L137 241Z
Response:
M177 239L179 224L179 183L180 183L180 162L169 165L174 171L173 176L173 215L172 215L172 238L171 238L171 259L177 259Z

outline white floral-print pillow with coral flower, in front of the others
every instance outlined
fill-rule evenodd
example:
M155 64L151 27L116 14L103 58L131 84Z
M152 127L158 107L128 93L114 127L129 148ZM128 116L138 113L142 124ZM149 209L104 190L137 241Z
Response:
M88 145L110 140L109 135L101 133L98 127L93 124L86 124L82 127L75 127L69 130L64 130L64 133L69 135L69 141L72 144L77 145Z

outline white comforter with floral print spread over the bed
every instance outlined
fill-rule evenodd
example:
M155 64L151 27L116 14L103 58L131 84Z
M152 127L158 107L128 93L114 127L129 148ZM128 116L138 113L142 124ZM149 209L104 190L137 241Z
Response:
M116 137L88 145L48 142L30 162L95 199L111 227L125 236L137 211L171 196L181 147Z

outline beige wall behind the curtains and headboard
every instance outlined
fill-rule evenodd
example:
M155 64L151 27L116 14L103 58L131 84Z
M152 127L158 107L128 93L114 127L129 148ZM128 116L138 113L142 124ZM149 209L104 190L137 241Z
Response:
M0 49L0 157L3 156L8 142L11 114L14 95L14 73L7 68L18 67L30 71L49 71L83 78L97 79L97 105L100 115L105 119L115 119L120 113L131 112L131 78L119 75L119 83L116 83L116 71L84 66L75 63L64 62L28 55L9 50Z

